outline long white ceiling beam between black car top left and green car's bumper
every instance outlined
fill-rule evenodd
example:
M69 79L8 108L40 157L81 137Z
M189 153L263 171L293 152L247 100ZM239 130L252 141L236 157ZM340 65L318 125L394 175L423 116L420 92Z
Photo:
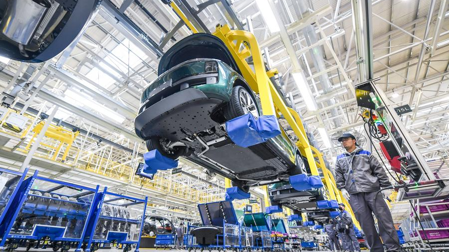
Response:
M104 94L101 91L94 90L94 89L90 88L89 86L85 85L82 80L78 79L76 76L74 76L70 72L67 72L66 70L58 68L53 64L50 64L48 66L48 68L54 73L54 75L58 79L60 79L61 81L65 82L69 85L74 85L74 86L82 89L83 92L92 96L98 102L103 103L109 109L117 111L118 113L124 115L126 118L128 118L130 120L134 119L137 116L137 113L135 110L124 106L120 102L114 100L113 98L109 97L108 95Z

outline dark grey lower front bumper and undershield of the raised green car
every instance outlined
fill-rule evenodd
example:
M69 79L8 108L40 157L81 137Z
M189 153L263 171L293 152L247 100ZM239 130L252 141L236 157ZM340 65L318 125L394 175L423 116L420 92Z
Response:
M218 125L211 111L222 102L198 89L184 89L142 111L134 120L136 134L145 140L157 135L179 141Z

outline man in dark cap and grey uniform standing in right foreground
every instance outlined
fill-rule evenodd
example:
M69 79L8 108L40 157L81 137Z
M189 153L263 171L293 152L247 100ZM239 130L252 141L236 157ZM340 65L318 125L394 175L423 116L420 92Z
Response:
M351 205L371 252L384 252L382 241L387 252L401 251L399 237L387 203L382 197L376 197L381 188L391 186L384 168L371 152L357 144L353 134L344 133L338 141L342 143L346 152L338 155L335 162L337 188ZM382 193L384 198L387 198L391 191L384 190ZM372 213L378 220L379 234Z

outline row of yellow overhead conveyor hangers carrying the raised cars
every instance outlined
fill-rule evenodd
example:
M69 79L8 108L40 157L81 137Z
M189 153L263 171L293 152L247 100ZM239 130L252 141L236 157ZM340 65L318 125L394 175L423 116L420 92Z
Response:
M186 25L194 33L197 33L198 30L186 18L180 8L176 6L173 1L170 5L186 23ZM237 63L237 66L241 71L243 78L246 80L249 87L255 93L259 94L263 115L276 115L278 118L280 116L283 116L283 118L285 118L289 126L291 126L293 132L298 137L296 146L299 148L301 155L307 158L312 175L323 176L322 180L329 193L330 199L343 202L346 206L346 210L350 212L354 223L358 228L360 228L360 225L356 221L349 203L343 198L343 195L337 189L332 173L325 166L322 153L319 152L315 147L310 145L298 113L285 105L282 97L276 91L273 83L271 83L271 80L269 78L277 74L277 70L265 70L265 64L263 62L262 55L254 34L245 30L231 30L226 24L217 25L216 31L213 33L213 35L217 36L225 43L227 49L232 54L232 57ZM253 62L252 67L248 64L248 62ZM319 173L318 168L321 170L322 174ZM225 186L226 188L231 186L231 183L228 179L226 179L225 181ZM265 206L268 206L269 199L267 187L263 186L263 189L265 194Z

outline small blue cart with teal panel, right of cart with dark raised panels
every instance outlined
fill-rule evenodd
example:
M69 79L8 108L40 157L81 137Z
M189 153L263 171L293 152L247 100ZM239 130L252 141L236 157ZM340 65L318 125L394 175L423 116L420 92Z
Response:
M266 217L264 213L245 214L243 217L242 226L252 230L251 250L271 250L271 231Z

